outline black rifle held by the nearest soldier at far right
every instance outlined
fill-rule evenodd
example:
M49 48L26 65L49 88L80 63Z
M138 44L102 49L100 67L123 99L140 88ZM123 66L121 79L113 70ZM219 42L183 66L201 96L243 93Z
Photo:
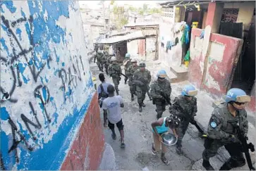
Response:
M238 122L238 126L236 127L236 130L238 132L238 139L242 143L242 149L243 149L243 153L245 153L245 158L246 158L248 167L250 170L255 170L255 167L252 166L252 160L250 158L250 153L249 153L249 149L252 152L255 151L254 145L251 142L247 144L248 137L244 137L243 134L241 133L239 122Z

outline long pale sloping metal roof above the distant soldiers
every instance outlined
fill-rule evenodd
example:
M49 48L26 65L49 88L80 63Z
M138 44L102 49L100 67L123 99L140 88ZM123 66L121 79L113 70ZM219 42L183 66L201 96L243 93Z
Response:
M127 40L145 38L147 36L154 36L156 34L157 34L157 30L139 30L123 36L116 36L116 37L111 37L109 39L102 39L97 43L98 44L116 44L116 43L127 41Z

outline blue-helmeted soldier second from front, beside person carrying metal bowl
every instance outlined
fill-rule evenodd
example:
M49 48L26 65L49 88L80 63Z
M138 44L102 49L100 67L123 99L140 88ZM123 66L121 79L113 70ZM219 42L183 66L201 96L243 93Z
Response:
M197 90L192 85L185 85L181 91L181 95L176 97L173 104L169 108L169 112L181 118L181 123L177 128L178 141L176 144L176 152L180 155L181 142L188 129L189 123L195 124L194 117L197 113Z

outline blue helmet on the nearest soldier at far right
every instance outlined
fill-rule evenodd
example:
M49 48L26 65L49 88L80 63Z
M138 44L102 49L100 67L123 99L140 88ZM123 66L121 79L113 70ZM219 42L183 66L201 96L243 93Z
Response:
M246 95L243 89L233 88L228 90L225 96L226 103L231 101L238 102L238 103L245 103L250 102L250 96Z

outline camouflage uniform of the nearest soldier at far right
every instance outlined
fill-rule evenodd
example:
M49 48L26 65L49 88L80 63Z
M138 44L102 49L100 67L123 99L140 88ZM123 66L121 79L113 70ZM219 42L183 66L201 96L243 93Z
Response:
M245 109L239 110L237 113L238 115L233 117L228 111L227 103L221 103L214 108L207 129L209 138L205 139L205 150L202 153L204 160L209 161L209 158L214 157L221 146L225 146L231 156L229 161L233 163L233 166L237 167L238 163L245 162L243 153L240 151L236 126L239 123L240 131L246 136L248 133L247 113ZM216 125L211 125L212 122ZM232 135L234 137L231 138Z

